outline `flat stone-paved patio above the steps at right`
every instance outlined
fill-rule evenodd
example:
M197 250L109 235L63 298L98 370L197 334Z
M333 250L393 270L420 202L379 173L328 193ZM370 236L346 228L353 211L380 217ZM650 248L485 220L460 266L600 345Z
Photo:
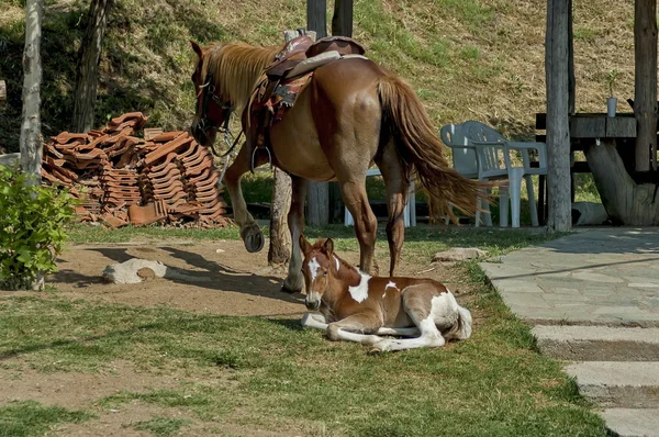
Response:
M535 324L659 326L659 229L593 228L482 262Z

